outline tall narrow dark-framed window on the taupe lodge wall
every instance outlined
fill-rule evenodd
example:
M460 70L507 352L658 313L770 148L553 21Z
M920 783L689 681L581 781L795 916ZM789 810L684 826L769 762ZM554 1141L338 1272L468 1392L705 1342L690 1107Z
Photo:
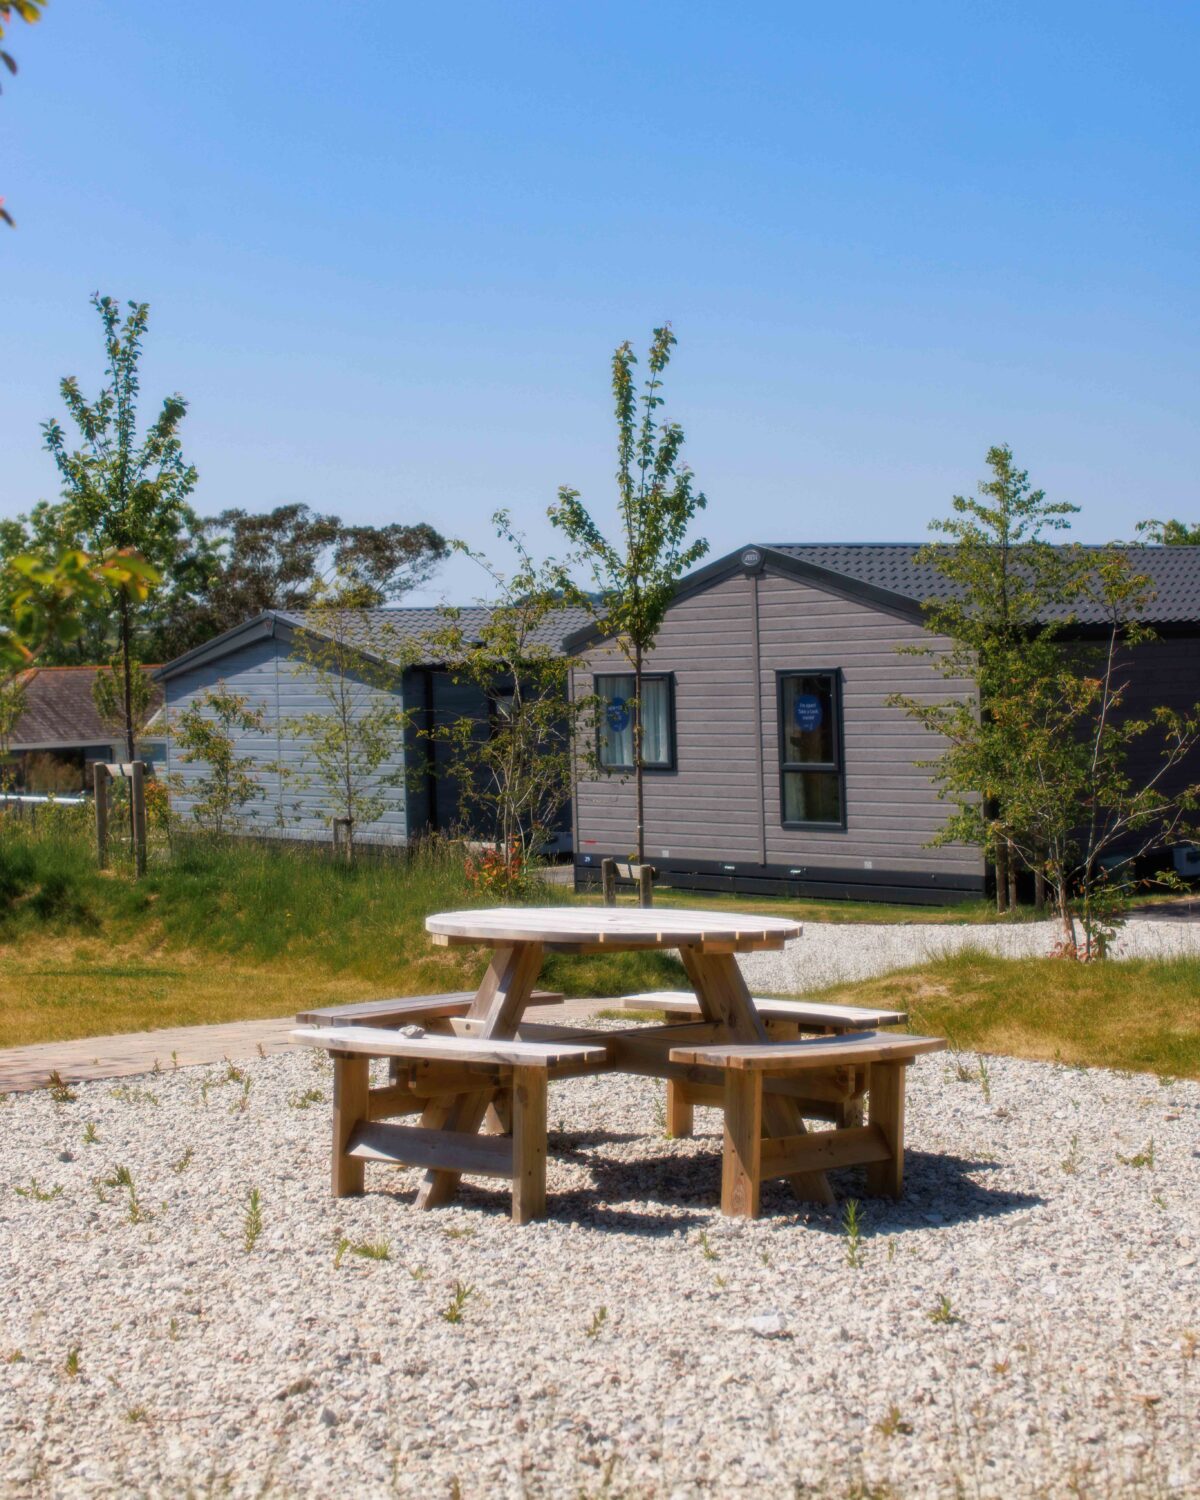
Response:
M784 828L844 828L842 674L778 674L780 813Z

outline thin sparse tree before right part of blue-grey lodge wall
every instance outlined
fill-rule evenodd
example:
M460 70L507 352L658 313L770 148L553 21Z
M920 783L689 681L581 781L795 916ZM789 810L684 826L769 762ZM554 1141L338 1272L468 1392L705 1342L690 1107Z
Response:
M292 651L324 706L288 718L284 729L306 741L315 771L294 772L298 788L314 782L330 807L330 822L346 830L346 860L354 860L358 828L387 808L386 789L404 777L388 770L400 759L410 716L399 704L402 669L388 660L387 632L368 646L362 636L362 592L345 579L327 588L306 612L306 628Z

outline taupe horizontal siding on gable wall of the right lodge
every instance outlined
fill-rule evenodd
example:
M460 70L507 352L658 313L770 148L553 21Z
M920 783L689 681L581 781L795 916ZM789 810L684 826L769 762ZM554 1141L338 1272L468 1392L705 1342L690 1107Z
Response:
M897 650L927 642L920 626L770 572L759 579L758 662L748 578L726 579L672 606L646 658L646 670L675 674L676 722L676 770L645 777L648 855L753 864L765 818L768 864L980 876L976 849L927 848L946 806L914 760L934 756L938 742L886 704L896 692L940 700L970 693L969 681L946 682L932 662ZM844 831L784 830L780 822L776 672L818 668L843 675ZM622 669L624 658L600 645L576 674L578 692L591 690L594 672ZM582 854L628 850L633 778L582 782L576 822Z

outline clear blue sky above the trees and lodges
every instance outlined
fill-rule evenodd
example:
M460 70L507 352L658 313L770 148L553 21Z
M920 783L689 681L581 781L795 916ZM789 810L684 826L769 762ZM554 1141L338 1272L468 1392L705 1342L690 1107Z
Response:
M1200 519L1200 8L51 0L0 98L0 513L152 304L196 506L538 548L670 318L714 554L921 537L1008 441L1086 540ZM429 597L468 598L464 561Z

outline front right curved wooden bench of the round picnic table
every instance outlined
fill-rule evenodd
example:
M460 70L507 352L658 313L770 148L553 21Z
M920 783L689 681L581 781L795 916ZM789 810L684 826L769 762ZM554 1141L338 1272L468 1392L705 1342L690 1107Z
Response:
M758 1218L764 1179L867 1167L867 1191L898 1197L904 1184L904 1070L940 1036L846 1032L812 1041L672 1047L670 1062L724 1071L722 1212ZM764 1078L866 1068L868 1122L802 1136L762 1134Z

